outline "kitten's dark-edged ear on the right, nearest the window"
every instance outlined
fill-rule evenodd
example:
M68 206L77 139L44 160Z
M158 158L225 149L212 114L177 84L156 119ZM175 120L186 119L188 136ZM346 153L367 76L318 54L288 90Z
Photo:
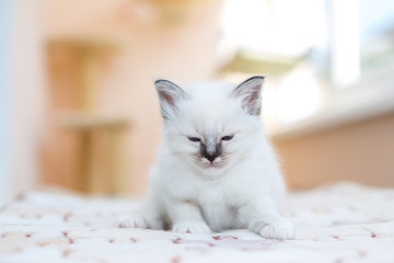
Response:
M251 115L260 113L263 82L263 76L252 77L239 84L231 93L232 98L241 100L242 108Z

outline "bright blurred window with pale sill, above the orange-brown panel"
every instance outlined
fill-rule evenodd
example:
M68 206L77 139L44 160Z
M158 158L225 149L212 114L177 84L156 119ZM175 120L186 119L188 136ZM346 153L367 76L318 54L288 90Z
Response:
M228 0L222 24L224 70L269 76L273 134L394 107L393 1Z

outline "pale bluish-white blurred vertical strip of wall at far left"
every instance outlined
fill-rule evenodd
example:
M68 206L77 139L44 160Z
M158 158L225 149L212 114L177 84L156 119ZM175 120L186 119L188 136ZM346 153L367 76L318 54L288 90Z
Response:
M1 2L1 194L13 197L38 182L37 150L45 107L39 4ZM7 21L8 20L8 21ZM4 23L3 23L4 22ZM4 30L4 31L3 31ZM4 195L2 195L3 197Z

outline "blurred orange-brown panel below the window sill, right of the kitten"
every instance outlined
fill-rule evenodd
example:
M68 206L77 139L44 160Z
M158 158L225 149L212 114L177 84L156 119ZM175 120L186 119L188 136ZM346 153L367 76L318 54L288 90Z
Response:
M336 181L394 186L394 111L311 133L274 137L291 188Z

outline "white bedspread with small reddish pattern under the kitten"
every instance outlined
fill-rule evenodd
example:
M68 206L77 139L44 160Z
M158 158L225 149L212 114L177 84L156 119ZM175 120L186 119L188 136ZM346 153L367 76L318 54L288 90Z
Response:
M394 190L338 183L290 193L297 239L115 228L138 201L30 192L0 208L0 262L394 262Z

